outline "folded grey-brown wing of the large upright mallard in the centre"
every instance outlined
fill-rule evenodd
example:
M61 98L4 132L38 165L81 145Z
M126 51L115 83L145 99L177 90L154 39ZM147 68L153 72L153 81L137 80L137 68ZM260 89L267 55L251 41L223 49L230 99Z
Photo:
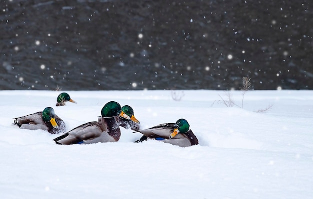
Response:
M94 140L95 143L95 139L101 136L102 131L103 129L98 122L88 122L53 139L53 141L62 145L93 143L90 140Z

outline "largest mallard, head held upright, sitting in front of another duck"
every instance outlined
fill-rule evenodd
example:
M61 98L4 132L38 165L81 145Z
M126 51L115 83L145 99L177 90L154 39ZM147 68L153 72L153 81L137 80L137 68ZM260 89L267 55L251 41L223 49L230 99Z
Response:
M117 142L120 137L120 130L115 120L117 115L130 119L122 112L117 102L110 101L101 109L99 121L82 124L53 139L53 141L62 145Z

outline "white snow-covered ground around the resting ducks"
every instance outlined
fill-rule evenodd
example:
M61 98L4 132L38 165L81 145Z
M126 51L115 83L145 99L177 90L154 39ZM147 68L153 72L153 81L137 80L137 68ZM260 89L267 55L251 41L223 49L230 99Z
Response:
M230 94L241 106L241 91L66 92L77 104L55 107L59 91L0 91L1 199L313 197L311 90L247 91L243 108L218 101ZM185 118L199 145L133 143L141 135L121 128L116 143L62 146L12 125L51 106L71 130L111 100L130 105L141 128Z

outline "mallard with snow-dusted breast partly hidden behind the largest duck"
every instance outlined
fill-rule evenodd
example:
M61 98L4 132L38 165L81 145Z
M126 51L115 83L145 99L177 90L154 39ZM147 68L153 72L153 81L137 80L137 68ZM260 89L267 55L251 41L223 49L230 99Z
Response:
M139 121L135 118L135 116L133 115L133 109L128 106L122 106L121 110L124 114L126 114L126 116L121 117L121 116L115 116L115 120L118 124L118 126L123 127L125 129L131 129L133 131L137 131L139 130ZM129 117L130 119L126 119L125 117ZM101 120L101 117L98 118L98 121Z

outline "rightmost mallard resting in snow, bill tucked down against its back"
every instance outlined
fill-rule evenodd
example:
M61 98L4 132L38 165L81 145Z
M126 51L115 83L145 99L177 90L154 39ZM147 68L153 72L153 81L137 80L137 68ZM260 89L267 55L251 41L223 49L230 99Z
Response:
M148 129L139 129L143 136L136 142L145 141L147 138L159 140L180 147L188 147L198 144L198 139L189 129L185 119L179 119L176 123L159 124Z

